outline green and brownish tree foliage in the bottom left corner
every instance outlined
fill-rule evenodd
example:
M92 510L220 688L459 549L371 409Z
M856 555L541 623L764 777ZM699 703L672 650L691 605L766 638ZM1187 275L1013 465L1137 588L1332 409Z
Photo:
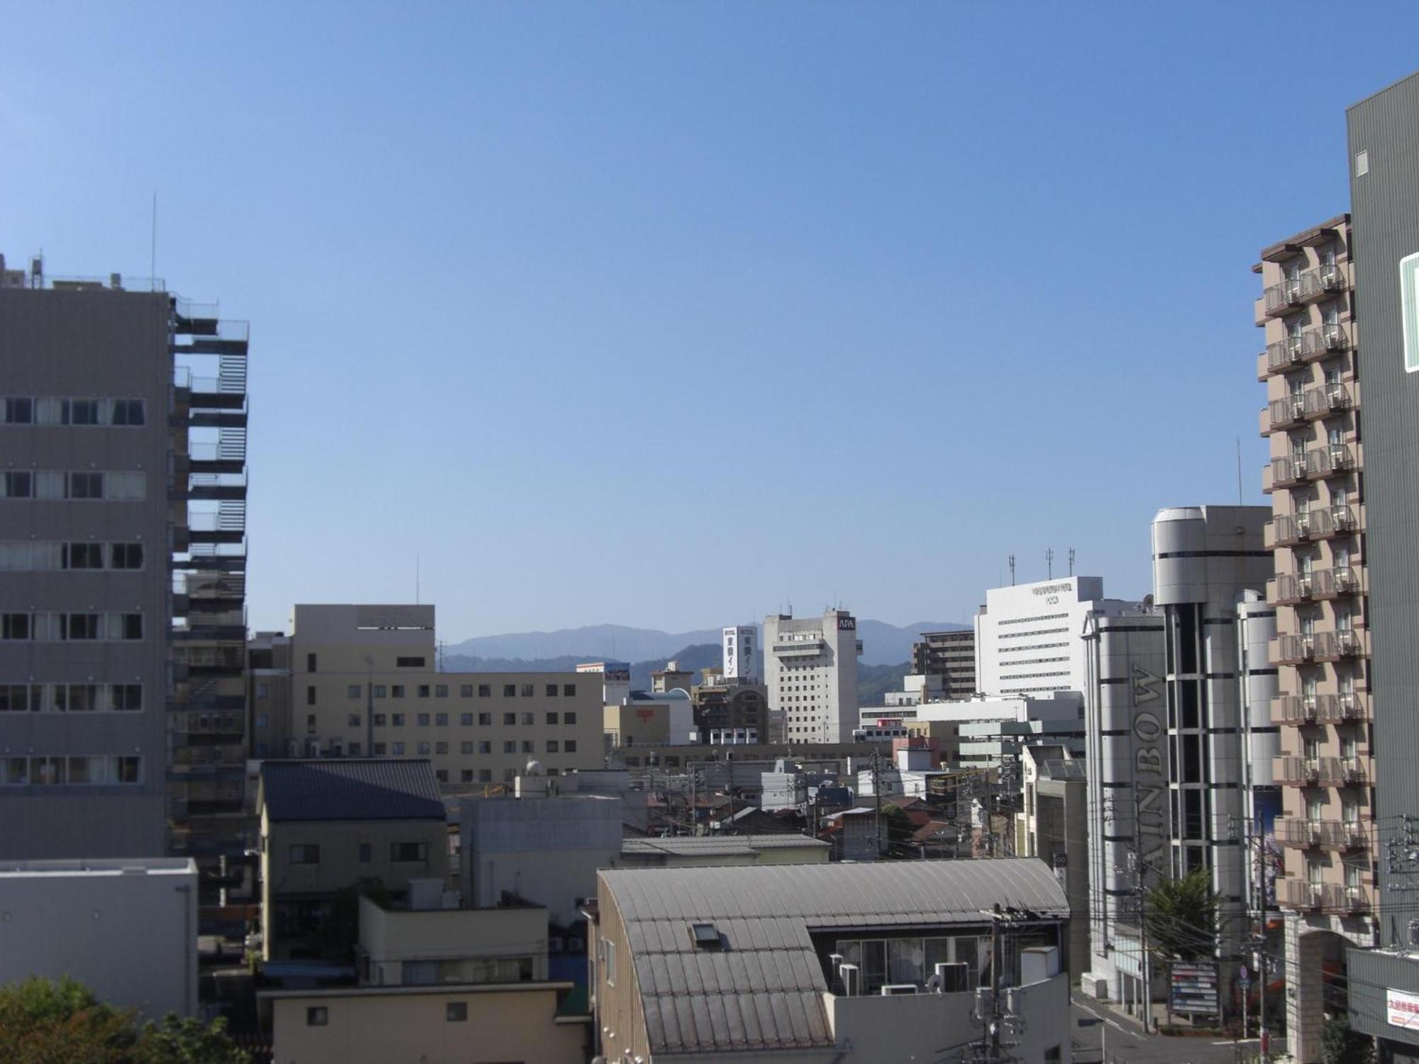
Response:
M0 986L0 1060L7 1064L247 1064L223 1020L165 1016L98 1000L74 979L40 976Z

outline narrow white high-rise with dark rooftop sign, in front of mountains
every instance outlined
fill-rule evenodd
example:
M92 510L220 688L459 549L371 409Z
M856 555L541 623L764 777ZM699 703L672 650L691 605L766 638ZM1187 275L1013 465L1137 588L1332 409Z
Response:
M857 619L847 610L795 620L763 619L769 714L782 714L788 742L851 742L857 728Z

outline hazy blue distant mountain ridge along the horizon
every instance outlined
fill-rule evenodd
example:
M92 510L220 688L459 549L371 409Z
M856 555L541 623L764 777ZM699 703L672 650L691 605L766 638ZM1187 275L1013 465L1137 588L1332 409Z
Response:
M758 627L758 626L756 626ZM969 628L956 621L917 621L888 624L858 619L857 638L863 641L864 665L895 665L911 660L911 644L924 631L955 631ZM592 624L559 631L518 631L502 636L477 636L444 647L446 655L482 660L507 658L539 661L546 658L578 658L579 661L648 661L670 660L685 647L719 645L719 628L668 633L658 628L633 628L624 624Z

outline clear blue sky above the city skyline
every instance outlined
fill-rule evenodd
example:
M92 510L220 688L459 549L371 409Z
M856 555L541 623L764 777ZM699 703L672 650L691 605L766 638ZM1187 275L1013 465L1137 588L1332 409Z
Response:
M403 13L403 14L402 14ZM450 640L837 599L1015 553L1149 589L1263 502L1259 248L1347 209L1419 6L14 3L0 251L251 319L254 627ZM3 366L0 366L3 380Z

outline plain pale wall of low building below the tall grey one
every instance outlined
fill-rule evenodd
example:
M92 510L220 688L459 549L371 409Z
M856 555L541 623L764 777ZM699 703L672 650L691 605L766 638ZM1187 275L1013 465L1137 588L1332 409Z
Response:
M72 976L150 1020L197 1012L197 865L0 864L0 985Z

